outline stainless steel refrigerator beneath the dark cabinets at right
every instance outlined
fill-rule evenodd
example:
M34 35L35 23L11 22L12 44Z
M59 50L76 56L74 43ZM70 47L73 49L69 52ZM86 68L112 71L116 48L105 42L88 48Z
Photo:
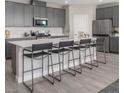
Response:
M110 52L110 36L112 33L111 20L94 20L92 23L92 31L94 37L105 37L106 52ZM97 47L97 51L102 52L101 47Z

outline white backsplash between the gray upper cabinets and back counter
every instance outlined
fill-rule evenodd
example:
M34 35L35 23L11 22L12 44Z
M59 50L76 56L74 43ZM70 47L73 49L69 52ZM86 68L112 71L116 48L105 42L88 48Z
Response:
M63 28L41 28L41 27L6 27L5 30L10 31L10 38L22 38L24 33L30 33L30 31L43 32L49 30L52 36L63 35Z

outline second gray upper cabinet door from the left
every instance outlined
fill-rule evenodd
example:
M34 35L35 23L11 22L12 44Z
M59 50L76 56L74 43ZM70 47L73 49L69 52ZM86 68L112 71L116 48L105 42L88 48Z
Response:
M24 26L24 5L14 4L15 26Z

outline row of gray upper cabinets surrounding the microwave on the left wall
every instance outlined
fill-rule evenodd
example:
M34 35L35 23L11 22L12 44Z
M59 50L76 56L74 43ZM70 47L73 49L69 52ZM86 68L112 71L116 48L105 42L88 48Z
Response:
M6 26L32 27L33 17L48 18L48 27L65 26L65 10L6 1Z

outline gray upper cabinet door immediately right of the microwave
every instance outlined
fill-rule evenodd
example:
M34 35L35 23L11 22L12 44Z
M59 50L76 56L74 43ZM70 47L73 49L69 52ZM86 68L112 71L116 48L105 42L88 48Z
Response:
M54 13L54 10L53 8L47 8L47 18L48 18L48 26L49 27L52 27L53 24L54 24L54 20L53 20L53 13Z

